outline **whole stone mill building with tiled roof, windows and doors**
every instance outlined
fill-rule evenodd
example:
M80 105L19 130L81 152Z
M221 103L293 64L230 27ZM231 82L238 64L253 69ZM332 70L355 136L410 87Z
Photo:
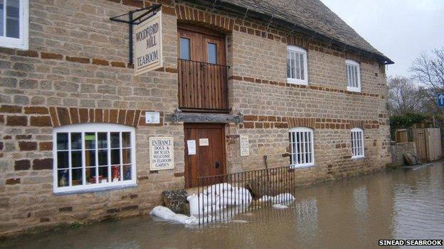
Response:
M162 67L135 76L129 25L110 18L155 4ZM319 0L0 10L0 237L148 214L162 191L262 169L264 155L300 184L391 162L393 62ZM157 140L172 168L153 170L153 138L172 138Z

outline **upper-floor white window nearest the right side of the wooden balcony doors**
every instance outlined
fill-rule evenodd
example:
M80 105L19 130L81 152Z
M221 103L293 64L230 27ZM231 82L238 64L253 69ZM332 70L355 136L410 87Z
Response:
M287 82L308 84L307 74L307 51L287 46Z

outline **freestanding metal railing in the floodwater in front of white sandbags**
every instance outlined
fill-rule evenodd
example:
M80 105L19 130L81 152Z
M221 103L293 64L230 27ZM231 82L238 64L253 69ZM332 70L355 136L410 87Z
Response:
M291 166L198 177L199 226L227 222L237 214L273 204L288 204L294 200L295 187Z

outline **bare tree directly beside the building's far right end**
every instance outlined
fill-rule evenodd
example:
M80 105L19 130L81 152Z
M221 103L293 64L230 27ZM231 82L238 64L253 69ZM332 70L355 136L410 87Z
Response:
M404 115L421 110L423 89L403 76L388 78L388 113Z

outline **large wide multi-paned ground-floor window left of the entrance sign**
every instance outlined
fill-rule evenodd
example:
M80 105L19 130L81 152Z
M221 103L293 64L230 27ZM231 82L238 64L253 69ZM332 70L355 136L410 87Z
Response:
M134 127L109 123L53 131L54 192L136 183Z

